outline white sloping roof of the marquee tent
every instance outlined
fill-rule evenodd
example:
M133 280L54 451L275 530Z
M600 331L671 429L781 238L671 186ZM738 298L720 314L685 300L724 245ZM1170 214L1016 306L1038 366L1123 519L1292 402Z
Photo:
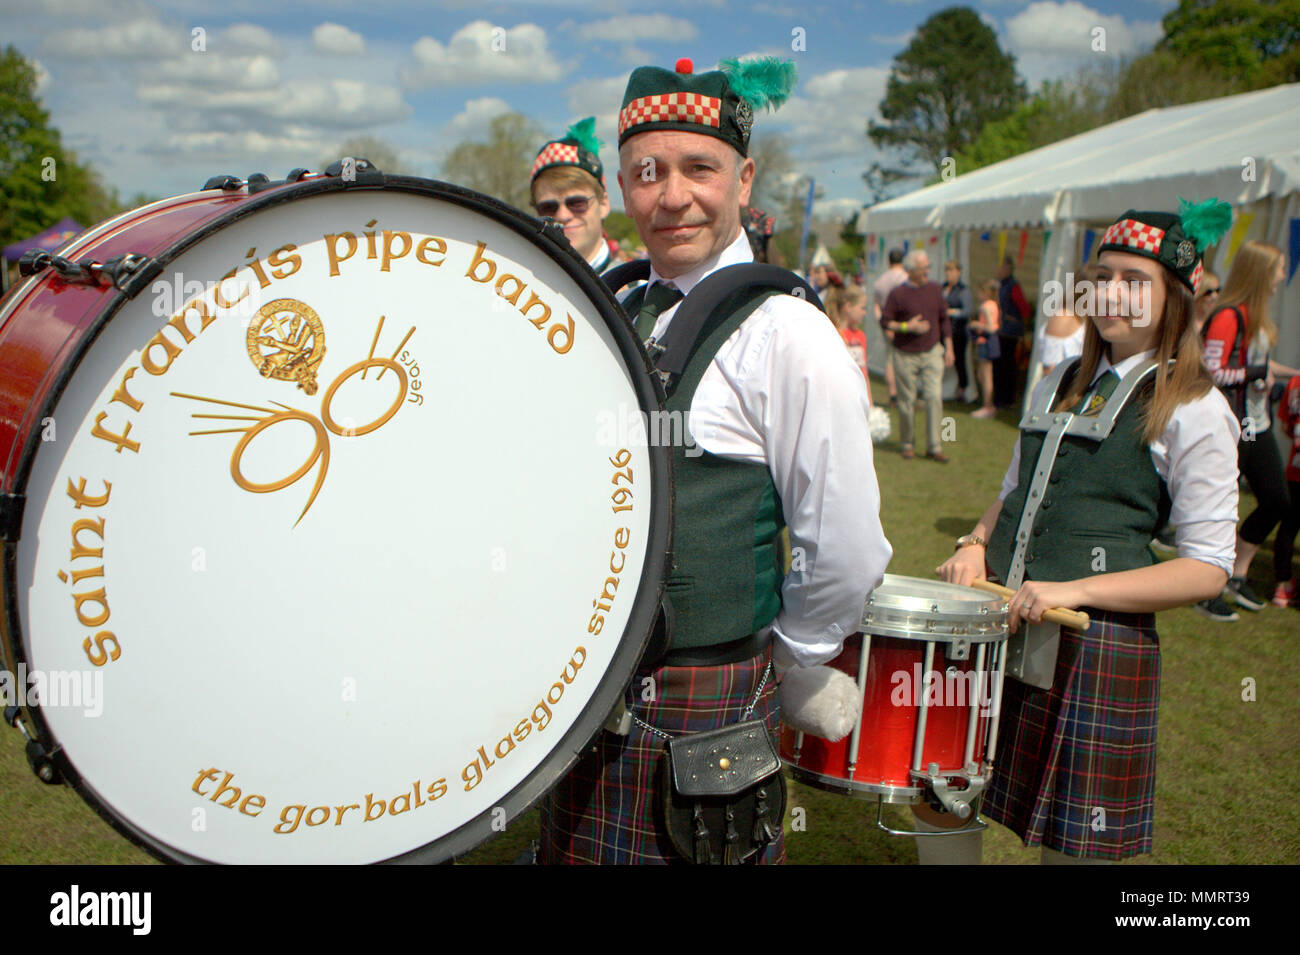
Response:
M859 233L1046 226L1300 190L1300 83L1149 109L864 209Z

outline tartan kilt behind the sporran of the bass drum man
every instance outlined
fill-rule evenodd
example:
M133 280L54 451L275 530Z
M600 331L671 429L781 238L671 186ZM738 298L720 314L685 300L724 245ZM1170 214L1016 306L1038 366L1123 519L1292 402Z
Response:
M628 709L671 737L720 729L740 721L772 659L758 656L720 667L658 667L638 670L625 694ZM642 681L654 680L655 699L641 699ZM776 680L754 707L754 719L777 739ZM538 861L547 864L673 864L677 856L664 830L656 798L667 742L637 724L625 735L599 735L542 802ZM760 864L785 861L784 833L759 854Z

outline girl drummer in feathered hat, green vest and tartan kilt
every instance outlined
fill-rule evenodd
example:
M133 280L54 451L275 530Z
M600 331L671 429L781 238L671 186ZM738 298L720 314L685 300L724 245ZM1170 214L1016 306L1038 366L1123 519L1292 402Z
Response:
M1192 327L1201 252L1230 221L1230 207L1209 200L1184 204L1180 216L1130 210L1106 230L1098 314L1052 403L1058 412L1098 413L1115 381L1104 381L1109 373L1122 379L1157 361L1105 440L1062 440L1028 537L1024 582L1009 603L1013 630L1040 622L1052 607L1083 608L1092 621L1084 633L1062 631L1050 690L1010 677L1004 683L983 812L1024 845L1043 846L1043 861L1150 851L1154 612L1217 595L1232 568L1239 426L1201 364ZM945 581L967 583L987 568L1008 579L1041 444L1041 431L1022 431L1001 495L940 568ZM1166 516L1178 526L1178 556L1160 564L1147 544ZM922 861L978 861L978 839L918 839Z

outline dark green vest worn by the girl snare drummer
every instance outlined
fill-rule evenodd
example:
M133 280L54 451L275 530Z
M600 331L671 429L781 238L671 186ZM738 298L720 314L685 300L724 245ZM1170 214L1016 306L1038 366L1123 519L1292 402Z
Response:
M1061 442L1026 548L1026 579L1074 581L1156 563L1148 544L1169 518L1170 499L1141 435L1150 387L1134 394L1105 440L1066 435ZM1069 378L1058 395L1067 390ZM1020 431L1019 483L1002 502L989 538L988 564L1004 581L1043 438L1043 431Z

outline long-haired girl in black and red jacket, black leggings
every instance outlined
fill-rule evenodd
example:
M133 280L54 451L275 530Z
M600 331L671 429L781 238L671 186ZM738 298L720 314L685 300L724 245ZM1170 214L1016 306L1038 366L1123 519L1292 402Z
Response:
M1244 243L1232 260L1218 309L1205 327L1205 365L1242 422L1238 468L1258 502L1238 531L1236 559L1226 587L1239 605L1251 611L1265 604L1245 582L1251 561L1291 505L1269 418L1274 376L1300 374L1269 359L1278 337L1269 300L1284 277L1282 249L1265 242ZM1197 604L1197 609L1214 620L1236 618L1221 598Z

